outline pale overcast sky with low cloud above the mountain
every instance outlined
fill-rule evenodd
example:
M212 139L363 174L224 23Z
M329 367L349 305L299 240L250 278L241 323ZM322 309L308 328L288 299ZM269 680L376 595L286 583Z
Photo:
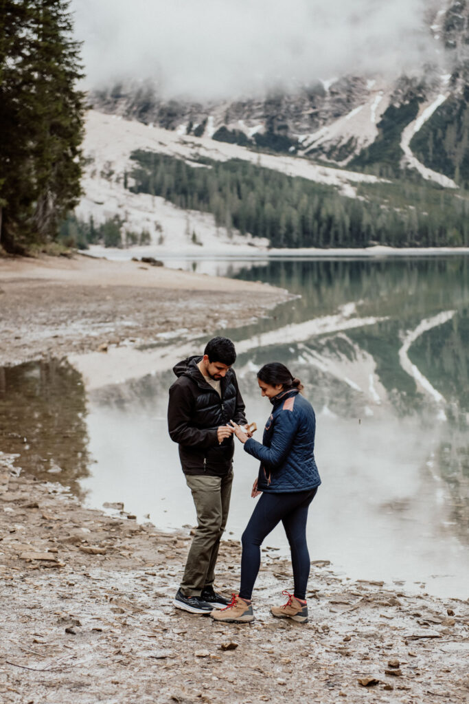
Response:
M345 73L401 73L436 42L438 0L72 0L87 87L156 78L167 97L236 97Z

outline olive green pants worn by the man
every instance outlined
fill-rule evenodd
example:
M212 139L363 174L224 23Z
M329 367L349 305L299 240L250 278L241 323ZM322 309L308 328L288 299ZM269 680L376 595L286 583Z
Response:
M186 474L197 511L198 526L187 556L181 582L184 596L200 596L205 586L213 586L221 535L230 508L233 470L226 477Z

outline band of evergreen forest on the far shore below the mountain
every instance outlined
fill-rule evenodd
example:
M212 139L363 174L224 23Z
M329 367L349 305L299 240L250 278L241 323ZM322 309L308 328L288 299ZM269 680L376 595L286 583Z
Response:
M469 197L429 182L359 184L349 198L238 159L191 165L148 151L132 159L132 191L213 213L217 226L266 237L273 247L469 244Z

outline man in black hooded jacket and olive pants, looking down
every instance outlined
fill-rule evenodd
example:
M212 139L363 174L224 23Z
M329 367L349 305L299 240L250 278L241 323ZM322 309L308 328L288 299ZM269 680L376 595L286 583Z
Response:
M246 423L243 398L231 369L235 360L233 342L214 337L203 356L176 364L178 378L169 389L169 435L179 444L198 521L174 605L197 614L229 603L215 593L213 584L233 482L233 427L227 423Z

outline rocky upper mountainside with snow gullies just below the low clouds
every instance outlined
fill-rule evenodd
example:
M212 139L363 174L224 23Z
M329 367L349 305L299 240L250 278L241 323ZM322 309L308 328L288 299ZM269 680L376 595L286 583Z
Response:
M368 167L378 172L383 161L380 149L364 152L377 141L389 142L393 123L398 121L402 130L408 130L403 144L394 139L394 161L418 168L408 149L414 134L431 118L438 121L446 101L466 100L468 20L466 0L443 1L428 17L428 32L437 46L435 57L439 57L439 63L425 65L420 73L392 82L378 75L347 75L300 87L295 94L278 92L259 99L211 103L164 101L150 82L117 83L93 92L91 103L99 111L179 134L321 158L335 165L352 163L354 168ZM354 163L356 158L359 161ZM442 171L450 180L454 176L448 164ZM420 173L432 177L430 171Z

